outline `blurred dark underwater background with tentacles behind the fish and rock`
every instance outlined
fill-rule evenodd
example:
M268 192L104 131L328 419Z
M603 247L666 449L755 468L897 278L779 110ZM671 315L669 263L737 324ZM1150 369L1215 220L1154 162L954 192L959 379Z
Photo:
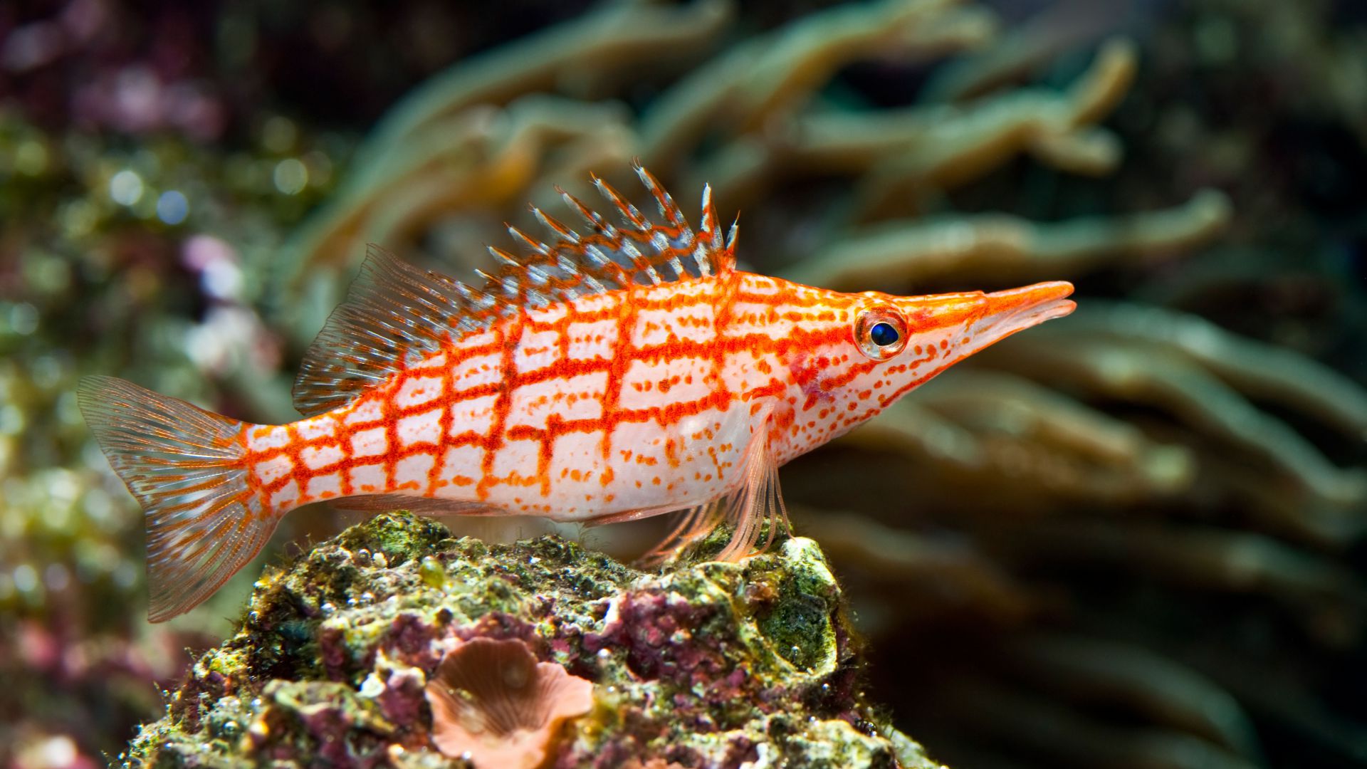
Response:
M783 471L880 717L956 768L1367 765L1355 0L0 5L0 765L116 758L261 564L364 517L150 625L79 376L295 419L366 244L466 275L633 159L749 270L1077 285Z

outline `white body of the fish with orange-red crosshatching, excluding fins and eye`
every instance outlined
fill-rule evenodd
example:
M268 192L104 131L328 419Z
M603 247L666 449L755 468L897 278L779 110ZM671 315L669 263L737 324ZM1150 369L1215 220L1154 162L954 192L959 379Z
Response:
M905 360L860 356L860 308L899 301L737 272L518 313L340 409L243 427L250 483L276 514L395 493L560 520L688 508L727 491L753 431L787 461L979 346L966 330L992 315L947 296L906 313ZM735 408L767 401L768 426Z

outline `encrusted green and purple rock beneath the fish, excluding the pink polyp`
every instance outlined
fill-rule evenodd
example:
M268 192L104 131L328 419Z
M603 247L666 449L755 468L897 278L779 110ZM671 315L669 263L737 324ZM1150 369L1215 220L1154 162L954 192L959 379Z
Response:
M592 683L547 765L931 766L863 701L841 591L809 539L648 573L555 536L452 539L406 513L268 572L126 761L468 766L477 753L437 750L424 691L476 638Z

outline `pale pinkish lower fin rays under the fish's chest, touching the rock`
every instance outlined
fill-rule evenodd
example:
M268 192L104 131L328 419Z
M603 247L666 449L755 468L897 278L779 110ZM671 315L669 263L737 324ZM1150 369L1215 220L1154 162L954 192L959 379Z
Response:
M640 558L641 564L658 565L677 557L685 547L707 536L720 524L733 527L731 539L719 553L711 556L714 561L740 561L757 556L768 550L779 531L785 535L791 532L787 506L783 504L783 491L779 487L778 462L768 445L767 415L759 424L745 450L740 487L705 505L678 510L674 528L653 550ZM764 536L763 545L760 536Z

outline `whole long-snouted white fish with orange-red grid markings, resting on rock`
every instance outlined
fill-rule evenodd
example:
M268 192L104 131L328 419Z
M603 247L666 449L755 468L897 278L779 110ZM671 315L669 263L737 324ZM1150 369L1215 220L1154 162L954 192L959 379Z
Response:
M79 404L146 510L153 621L241 569L320 499L429 514L617 521L682 513L658 553L730 521L722 560L786 528L778 467L987 345L1068 315L1072 286L897 297L735 267L703 190L694 231L637 168L659 220L593 179L552 235L483 286L372 248L294 386L306 419L247 424L128 382ZM764 525L770 521L768 525Z

